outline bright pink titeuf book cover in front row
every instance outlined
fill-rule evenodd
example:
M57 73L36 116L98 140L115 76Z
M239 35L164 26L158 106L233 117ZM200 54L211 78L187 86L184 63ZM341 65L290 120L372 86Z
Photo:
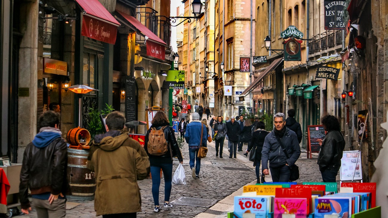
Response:
M308 214L307 199L275 197L274 218L282 218L283 214L293 214L295 218L306 218Z

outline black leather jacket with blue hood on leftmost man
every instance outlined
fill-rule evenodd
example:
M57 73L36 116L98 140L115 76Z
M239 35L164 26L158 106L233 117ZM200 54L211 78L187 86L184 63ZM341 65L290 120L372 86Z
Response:
M61 131L54 127L42 127L23 154L19 184L22 209L31 206L28 189L32 195L47 192L54 195L70 194L67 163L68 151Z

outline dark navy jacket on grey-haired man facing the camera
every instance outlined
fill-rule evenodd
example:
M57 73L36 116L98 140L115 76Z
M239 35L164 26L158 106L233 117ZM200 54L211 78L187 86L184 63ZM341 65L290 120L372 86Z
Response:
M286 154L282 151L282 148L275 136L275 128L265 137L263 150L262 150L262 169L268 169L269 167L282 167L288 164L290 168L295 165L295 162L300 156L300 146L296 134L294 131L286 128L283 137L280 139L286 152L289 156L287 159Z

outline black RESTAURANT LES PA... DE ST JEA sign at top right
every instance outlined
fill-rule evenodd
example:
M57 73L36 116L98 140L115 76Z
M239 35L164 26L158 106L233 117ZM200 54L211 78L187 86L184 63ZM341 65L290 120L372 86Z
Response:
M325 29L345 29L343 21L344 8L347 8L345 0L324 0Z

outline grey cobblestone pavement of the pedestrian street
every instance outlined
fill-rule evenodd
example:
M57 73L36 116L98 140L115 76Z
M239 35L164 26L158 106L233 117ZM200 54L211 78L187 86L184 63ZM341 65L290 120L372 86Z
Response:
M189 152L188 146L185 144L182 149L184 156L184 169L186 172L186 185L173 185L170 201L178 197L196 197L201 199L211 199L220 201L225 197L239 190L242 186L252 183L256 180L253 164L246 158L243 152L237 153L237 158L229 158L227 152L227 140L224 143L223 157L215 156L214 142L208 143L208 155L201 161L200 179L192 179L189 167ZM245 151L247 145L243 146ZM322 182L318 169L317 158L307 159L307 154L302 153L296 164L300 169L300 179L296 182ZM174 161L173 171L178 166L178 161ZM223 167L234 167L235 170L226 170ZM246 171L248 170L248 171ZM272 181L270 176L266 177L266 181ZM142 196L142 212L137 214L138 217L168 217L168 218L192 218L200 213L207 213L213 216L206 217L226 217L225 209L208 209L196 206L174 205L173 208L162 208L159 213L154 213L154 203L152 198L152 180L145 179L138 182ZM238 194L238 193L237 193ZM163 205L164 199L164 181L162 179L159 192L159 201ZM130 199L123 199L123 201ZM69 200L67 205L68 218L91 218L95 217L94 201L72 201ZM223 211L223 212L220 212ZM35 209L29 215L14 216L16 218L36 218Z

